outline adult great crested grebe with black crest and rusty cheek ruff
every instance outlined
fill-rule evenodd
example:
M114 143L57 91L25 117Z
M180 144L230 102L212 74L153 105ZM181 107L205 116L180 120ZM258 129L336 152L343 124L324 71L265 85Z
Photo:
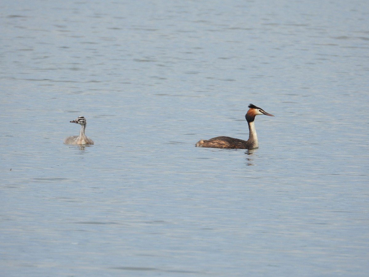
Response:
M249 124L249 139L240 140L238 138L232 137L213 137L210 140L200 140L195 145L197 147L213 147L213 148L238 148L238 149L252 149L258 148L258 137L255 131L255 116L260 114L265 114L268 116L273 116L273 114L265 112L263 109L250 104L248 106L250 109L247 111L245 118Z

